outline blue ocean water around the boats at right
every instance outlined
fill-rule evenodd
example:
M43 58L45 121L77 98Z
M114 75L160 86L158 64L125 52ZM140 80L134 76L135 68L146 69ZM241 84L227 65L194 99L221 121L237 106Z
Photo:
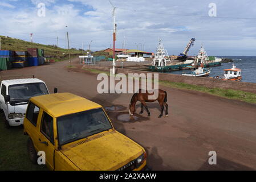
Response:
M220 67L211 67L212 71L209 77L224 75L224 69L230 69L233 64L241 69L242 80L244 82L256 83L256 56L216 56L232 59L233 63L221 63ZM189 72L189 70L183 71L171 71L168 73L181 75L183 72Z

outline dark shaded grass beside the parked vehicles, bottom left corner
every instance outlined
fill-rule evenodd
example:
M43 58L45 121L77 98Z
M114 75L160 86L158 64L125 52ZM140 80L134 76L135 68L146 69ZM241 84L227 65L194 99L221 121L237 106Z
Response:
M27 136L23 135L23 126L5 128L0 114L0 171L38 171L47 170L44 165L33 164L27 154Z

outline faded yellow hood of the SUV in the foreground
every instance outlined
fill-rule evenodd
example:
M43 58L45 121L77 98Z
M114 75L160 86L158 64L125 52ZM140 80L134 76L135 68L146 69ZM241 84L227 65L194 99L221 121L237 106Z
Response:
M116 170L144 152L139 144L117 131L107 131L66 144L61 151L84 171Z

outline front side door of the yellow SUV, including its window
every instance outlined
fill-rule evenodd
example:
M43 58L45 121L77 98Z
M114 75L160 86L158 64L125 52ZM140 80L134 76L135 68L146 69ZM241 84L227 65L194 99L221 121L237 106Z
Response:
M39 134L40 150L46 154L46 165L51 170L54 169L54 119L51 115L43 111L40 134Z

